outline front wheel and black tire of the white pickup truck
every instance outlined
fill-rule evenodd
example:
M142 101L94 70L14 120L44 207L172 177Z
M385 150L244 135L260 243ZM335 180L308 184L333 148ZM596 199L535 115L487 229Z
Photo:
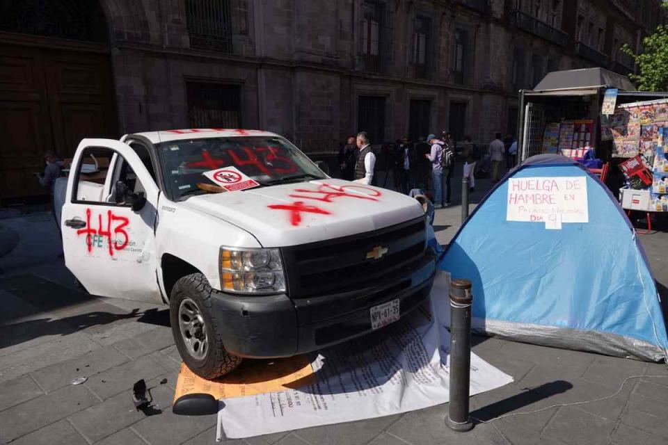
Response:
M186 365L207 380L230 373L241 364L241 357L223 346L222 320L214 314L212 292L206 277L193 273L174 284L169 299L176 347Z

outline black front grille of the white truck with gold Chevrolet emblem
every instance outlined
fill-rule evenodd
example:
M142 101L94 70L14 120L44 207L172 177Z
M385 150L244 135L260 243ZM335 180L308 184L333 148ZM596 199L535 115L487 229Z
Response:
M309 298L396 280L397 273L418 267L426 238L424 218L418 218L374 232L284 248L289 294ZM367 259L374 248L384 254Z

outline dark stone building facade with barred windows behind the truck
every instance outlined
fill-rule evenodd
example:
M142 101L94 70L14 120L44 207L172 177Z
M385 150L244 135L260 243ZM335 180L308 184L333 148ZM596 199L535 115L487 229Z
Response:
M67 156L84 136L258 128L313 156L359 130L375 143L444 129L486 142L496 131L515 132L520 88L550 70L627 74L633 62L621 44L638 49L665 21L660 0L51 0L51 10L44 3L0 6L0 108L11 111L3 120L0 109L0 128L39 133L50 125L32 141L17 135L15 147L0 148L3 161L22 159L0 168L0 197L17 193L3 188L27 181L45 147ZM90 83L72 99L78 108L56 87L23 79L28 71L8 71L25 48L31 72L45 73L42 83L61 79L63 91ZM51 60L49 49L78 71ZM52 65L60 74L49 74ZM24 97L17 82L30 84ZM32 111L15 113L23 99ZM35 191L27 182L22 190Z

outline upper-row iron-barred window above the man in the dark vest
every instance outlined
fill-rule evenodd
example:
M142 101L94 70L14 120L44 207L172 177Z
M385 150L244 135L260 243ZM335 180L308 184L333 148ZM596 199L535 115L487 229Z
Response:
M361 69L387 72L392 58L392 16L388 3L365 0L360 20L358 62Z

